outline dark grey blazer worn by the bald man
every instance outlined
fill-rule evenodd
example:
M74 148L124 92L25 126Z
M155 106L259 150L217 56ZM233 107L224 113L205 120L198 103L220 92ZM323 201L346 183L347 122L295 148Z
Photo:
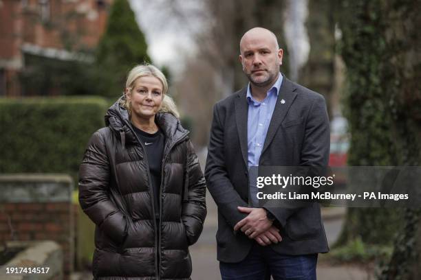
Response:
M248 207L246 92L242 89L213 107L206 159L206 183L218 207L217 259L224 262L241 261L254 242L233 231L246 217L237 206ZM325 99L284 76L259 166L327 166L329 149ZM319 204L268 210L277 218L283 237L270 245L273 250L286 255L329 251Z

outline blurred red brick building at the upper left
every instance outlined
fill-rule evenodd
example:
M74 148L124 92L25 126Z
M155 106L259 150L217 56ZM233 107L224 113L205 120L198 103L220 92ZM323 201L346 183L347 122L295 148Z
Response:
M21 95L17 73L25 68L23 45L53 49L72 45L75 51L96 47L113 1L50 0L50 16L42 19L38 0L0 0L0 69L6 75L6 86L2 86L0 94Z

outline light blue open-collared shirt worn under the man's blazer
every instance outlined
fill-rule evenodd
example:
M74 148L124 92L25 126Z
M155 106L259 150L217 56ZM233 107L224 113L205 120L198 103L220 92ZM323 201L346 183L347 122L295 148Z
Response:
M272 119L272 114L282 84L282 74L279 73L278 80L266 93L266 98L261 102L255 100L251 95L250 83L247 88L248 119L247 119L247 145L248 145L248 167L259 165L259 159L266 134Z

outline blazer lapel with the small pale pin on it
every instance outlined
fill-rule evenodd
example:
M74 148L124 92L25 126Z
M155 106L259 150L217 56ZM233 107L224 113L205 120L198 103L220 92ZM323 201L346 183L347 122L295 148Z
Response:
M268 134L266 135L265 143L263 144L263 149L261 150L260 158L263 152L265 152L265 150L268 149L268 146L272 142L274 135L276 134L279 126L281 125L281 122L288 113L288 110L296 97L295 90L296 89L292 82L288 80L284 75L281 84L281 89L279 89L277 104L275 104L272 119L270 119Z

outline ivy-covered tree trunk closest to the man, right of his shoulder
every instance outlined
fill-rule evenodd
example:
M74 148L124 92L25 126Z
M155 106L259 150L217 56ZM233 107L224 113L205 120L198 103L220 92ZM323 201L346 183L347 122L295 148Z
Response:
M351 146L348 165L392 165L394 145L391 116L381 79L386 59L385 41L379 36L380 0L344 0L339 16L343 32L341 55L347 67L345 115L349 121ZM356 209L347 211L338 244L361 237L368 244L391 244L399 227L396 209Z

